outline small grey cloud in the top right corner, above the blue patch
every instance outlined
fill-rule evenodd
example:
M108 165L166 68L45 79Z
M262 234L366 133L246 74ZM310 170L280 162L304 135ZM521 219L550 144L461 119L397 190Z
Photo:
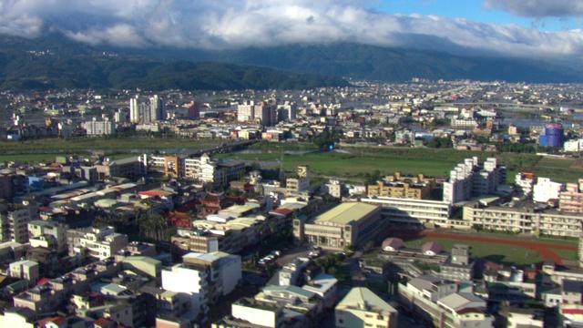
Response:
M484 0L488 9L504 10L522 17L578 17L583 15L583 2L578 0Z

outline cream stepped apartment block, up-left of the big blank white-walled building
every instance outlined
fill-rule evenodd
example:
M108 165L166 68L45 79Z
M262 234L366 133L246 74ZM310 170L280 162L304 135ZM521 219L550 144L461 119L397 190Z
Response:
M69 256L91 256L105 260L128 245L128 236L113 227L70 229L66 231Z

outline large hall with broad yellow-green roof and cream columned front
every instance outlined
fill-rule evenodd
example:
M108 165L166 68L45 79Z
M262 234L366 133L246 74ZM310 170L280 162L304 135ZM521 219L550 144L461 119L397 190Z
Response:
M386 220L381 208L362 202L348 202L317 216L310 222L293 220L293 237L297 243L343 248L362 245L384 232Z

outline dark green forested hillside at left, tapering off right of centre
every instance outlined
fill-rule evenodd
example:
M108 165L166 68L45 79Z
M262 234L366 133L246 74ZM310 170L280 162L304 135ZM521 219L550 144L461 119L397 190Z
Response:
M0 88L307 89L348 86L341 77L296 74L210 61L166 62L143 56L103 56L91 46L53 34L36 40L1 37ZM37 56L28 51L43 52ZM209 58L216 60L216 58Z

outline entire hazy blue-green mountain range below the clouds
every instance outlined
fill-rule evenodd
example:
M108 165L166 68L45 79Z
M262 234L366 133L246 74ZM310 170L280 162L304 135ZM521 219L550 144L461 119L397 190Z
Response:
M354 43L209 51L89 46L58 33L36 39L0 36L3 89L302 89L343 87L351 78L404 82L412 77L579 83L582 73L572 63Z

